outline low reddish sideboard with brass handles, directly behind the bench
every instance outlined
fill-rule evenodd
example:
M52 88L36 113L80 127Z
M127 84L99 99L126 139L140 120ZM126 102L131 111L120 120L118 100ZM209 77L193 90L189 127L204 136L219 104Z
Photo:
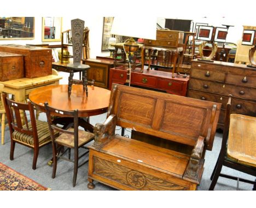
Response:
M172 78L171 72L146 70L140 72L141 69L136 68L131 72L131 85L144 88L153 88L156 90L166 91L166 93L186 96L189 76L183 77L176 75ZM109 89L112 83L125 84L127 78L127 69L120 66L110 68L109 71Z

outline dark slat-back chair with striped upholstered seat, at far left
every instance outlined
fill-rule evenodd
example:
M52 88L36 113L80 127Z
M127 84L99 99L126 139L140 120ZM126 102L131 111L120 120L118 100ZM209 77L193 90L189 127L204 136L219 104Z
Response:
M3 102L5 112L8 119L10 130L10 160L14 159L15 144L27 146L34 150L32 169L36 169L39 148L51 142L48 123L36 120L34 114L34 106L28 103L15 102L3 94ZM30 115L30 121L27 119L26 113ZM22 124L22 115L25 117L25 124Z

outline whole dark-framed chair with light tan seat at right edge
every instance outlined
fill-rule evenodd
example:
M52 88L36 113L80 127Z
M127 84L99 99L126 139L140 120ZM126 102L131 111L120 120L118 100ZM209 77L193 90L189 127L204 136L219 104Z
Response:
M224 124L224 130L223 130L223 138L222 138L222 146L219 152L219 157L217 160L217 163L213 169L212 175L211 175L211 186L209 188L209 190L213 190L217 180L220 177L224 177L224 178L228 178L228 179L232 179L232 180L237 180L237 181L242 181L242 182L247 182L247 183L251 183L254 184L253 189L256 188L256 180L255 181L250 181L247 179L241 179L241 178L237 178L234 176L230 176L230 175L226 175L226 174L222 174L220 173L222 170L223 166L238 170L240 172L243 173L247 173L249 175L253 175L256 176L256 161L255 161L255 151L253 151L255 149L255 145L252 145L251 148L247 148L246 146L243 146L243 141L246 139L251 139L251 142L253 140L255 140L256 135L255 135L255 130L253 129L253 126L256 126L256 119L253 119L253 123L247 123L248 125L240 125L240 123L232 123L230 124L230 117L239 117L240 114L231 114L230 115L230 108L231 108L231 96L229 96L229 100L228 103L226 104L226 114L225 114L225 124ZM242 117L247 117L245 115L241 115ZM254 117L251 117L254 118ZM238 124L238 126L237 126ZM252 127L252 128L251 128ZM240 131L240 132L239 132ZM243 132L242 132L243 131ZM235 132L235 133L234 133ZM247 132L247 138L243 138L242 134L244 134L245 132ZM249 149L251 149L250 153L254 154L254 156L252 157L252 160L250 159L250 164L248 164L247 162L243 161L241 156L246 156L245 152L242 152L243 150L239 147L236 147L235 145L231 145L231 141L230 141L230 137L235 137L235 140L240 144L240 146L243 146L243 149L245 149L248 153L248 151L250 151ZM229 144L228 143L228 139L229 139ZM234 139L234 138L232 138ZM255 144L255 142L254 142ZM234 149L236 148L236 149ZM254 148L254 149L253 149ZM230 152L236 152L236 156L231 156ZM248 159L249 157L247 157ZM253 160L254 158L254 160ZM238 183L237 183L237 189L238 189Z

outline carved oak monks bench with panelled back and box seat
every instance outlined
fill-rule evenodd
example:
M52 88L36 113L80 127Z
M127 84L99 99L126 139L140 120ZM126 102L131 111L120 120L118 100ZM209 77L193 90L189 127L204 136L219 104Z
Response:
M89 147L88 188L94 180L121 190L195 190L205 150L212 150L220 103L114 84L107 120ZM121 126L167 148L115 135ZM152 140L151 139L151 140Z

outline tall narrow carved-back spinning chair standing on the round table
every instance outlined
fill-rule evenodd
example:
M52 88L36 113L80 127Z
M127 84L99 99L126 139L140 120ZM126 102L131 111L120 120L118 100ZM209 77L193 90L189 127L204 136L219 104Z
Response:
M68 97L71 95L72 84L83 84L83 89L88 96L87 70L89 65L81 64L84 41L84 21L75 19L71 20L72 44L73 44L73 64L68 64L67 69L70 71L68 77ZM82 71L82 80L73 79L74 72Z

